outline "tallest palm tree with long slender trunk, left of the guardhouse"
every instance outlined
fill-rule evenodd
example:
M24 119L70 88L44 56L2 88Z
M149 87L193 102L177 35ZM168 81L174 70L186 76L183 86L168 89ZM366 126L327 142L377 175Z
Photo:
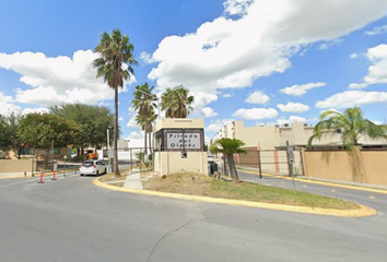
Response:
M96 78L104 78L108 86L115 91L115 124L114 124L114 174L120 177L118 169L118 86L124 87L124 81L134 74L132 66L138 62L134 59L134 47L127 35L121 35L120 29L114 29L110 34L104 32L99 44L94 48L99 55L92 63L97 69Z

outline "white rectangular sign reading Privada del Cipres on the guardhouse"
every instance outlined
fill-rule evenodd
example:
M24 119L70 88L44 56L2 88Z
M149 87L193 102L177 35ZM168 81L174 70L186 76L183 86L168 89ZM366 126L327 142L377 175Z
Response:
M184 139L183 139L184 134ZM200 150L200 132L166 132L166 150Z

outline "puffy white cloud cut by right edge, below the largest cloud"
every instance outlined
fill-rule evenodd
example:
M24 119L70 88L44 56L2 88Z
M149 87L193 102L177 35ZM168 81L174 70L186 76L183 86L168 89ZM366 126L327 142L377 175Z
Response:
M352 83L350 88L364 88L373 84L387 83L387 45L382 44L367 50L366 57L371 66L367 75L363 78L362 83Z

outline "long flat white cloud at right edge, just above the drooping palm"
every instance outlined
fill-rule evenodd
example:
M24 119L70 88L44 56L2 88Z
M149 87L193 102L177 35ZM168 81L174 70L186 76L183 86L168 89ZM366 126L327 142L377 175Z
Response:
M387 92L345 91L317 102L316 107L348 108L374 103L387 103Z

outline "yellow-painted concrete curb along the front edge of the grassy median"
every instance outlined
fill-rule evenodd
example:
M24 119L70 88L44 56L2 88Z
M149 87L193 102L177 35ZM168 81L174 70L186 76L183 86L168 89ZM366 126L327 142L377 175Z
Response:
M106 184L104 182L101 182L99 178L95 178L93 180L93 183L99 188L109 189L119 192L156 195L156 196L164 196L164 198L172 198L172 199L194 200L194 201L202 201L202 202L216 203L216 204L228 204L228 205L258 207L258 209L269 209L269 210L277 210L277 211L297 212L297 213L315 214L315 215L328 215L328 216L340 216L340 217L365 217L365 216L373 216L377 214L376 210L357 203L356 204L360 206L360 209L357 210L330 210L330 209L318 209L318 207L313 209L306 206L269 204L269 203L251 202L251 201L244 201L244 200L228 200L228 199L199 196L199 195L156 192L150 190L128 189L128 188Z

